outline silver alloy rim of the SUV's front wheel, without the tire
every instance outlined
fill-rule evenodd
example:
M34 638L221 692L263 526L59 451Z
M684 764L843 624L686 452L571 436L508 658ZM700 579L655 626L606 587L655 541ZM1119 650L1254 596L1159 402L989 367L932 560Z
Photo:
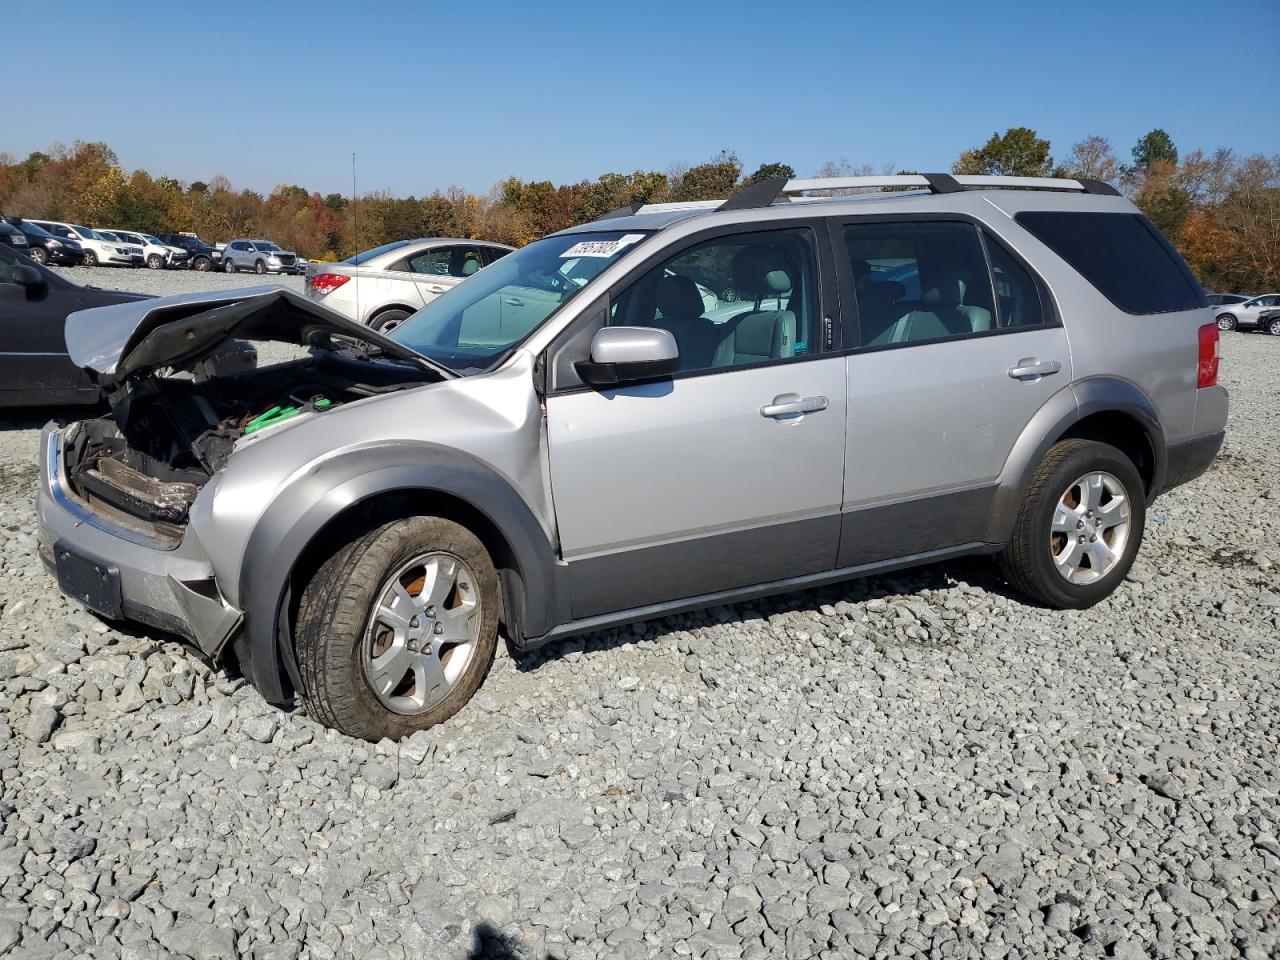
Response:
M361 646L378 700L401 714L425 713L462 677L479 645L480 593L458 557L415 557L384 582Z

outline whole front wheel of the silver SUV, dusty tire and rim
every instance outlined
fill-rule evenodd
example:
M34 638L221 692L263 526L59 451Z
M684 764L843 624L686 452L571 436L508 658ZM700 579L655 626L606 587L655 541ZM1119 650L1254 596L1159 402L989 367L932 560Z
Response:
M338 550L303 590L307 712L365 740L442 723L480 689L498 640L498 573L443 517L392 521Z

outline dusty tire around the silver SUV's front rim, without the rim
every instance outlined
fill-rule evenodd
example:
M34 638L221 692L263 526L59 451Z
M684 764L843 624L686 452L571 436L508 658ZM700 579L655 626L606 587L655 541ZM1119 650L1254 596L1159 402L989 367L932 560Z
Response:
M365 631L387 580L428 552L461 559L481 604L479 637L463 672L430 709L404 714L385 707L365 669ZM364 740L399 740L442 723L471 699L493 663L498 641L498 573L470 530L442 517L396 520L334 553L311 577L298 607L297 659L307 713Z

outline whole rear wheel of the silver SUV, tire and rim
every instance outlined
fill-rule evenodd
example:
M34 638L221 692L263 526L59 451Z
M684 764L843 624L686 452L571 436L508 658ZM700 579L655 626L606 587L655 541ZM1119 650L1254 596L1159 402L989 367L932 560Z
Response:
M1146 518L1133 461L1105 443L1061 440L1027 488L1001 570L1047 607L1092 607L1129 572Z

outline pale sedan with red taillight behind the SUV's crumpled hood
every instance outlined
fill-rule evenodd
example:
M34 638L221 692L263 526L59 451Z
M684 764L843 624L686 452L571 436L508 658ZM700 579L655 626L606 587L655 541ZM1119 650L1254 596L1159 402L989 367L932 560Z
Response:
M388 333L512 247L435 237L396 241L339 264L308 264L306 294L348 320Z

